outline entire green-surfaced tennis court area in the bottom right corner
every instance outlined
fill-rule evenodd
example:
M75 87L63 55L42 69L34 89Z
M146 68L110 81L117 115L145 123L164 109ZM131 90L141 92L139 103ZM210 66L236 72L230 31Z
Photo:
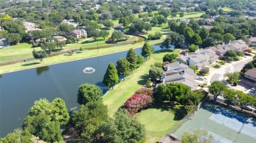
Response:
M173 133L181 139L185 131L193 133L195 129L203 129L214 136L216 143L251 143L256 142L255 121L225 106L205 103L194 114L194 118L188 119Z

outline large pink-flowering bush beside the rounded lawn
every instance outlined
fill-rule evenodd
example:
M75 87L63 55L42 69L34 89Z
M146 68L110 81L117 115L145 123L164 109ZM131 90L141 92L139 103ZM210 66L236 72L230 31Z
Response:
M124 107L128 110L131 116L134 116L142 108L146 108L152 103L152 97L146 94L134 94L130 97Z

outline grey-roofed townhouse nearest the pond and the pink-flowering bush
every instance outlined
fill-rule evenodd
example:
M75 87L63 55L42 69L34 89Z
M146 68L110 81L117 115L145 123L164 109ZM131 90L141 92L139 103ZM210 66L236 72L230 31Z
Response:
M161 84L175 82L184 84L190 87L191 90L197 89L198 83L195 82L196 74L193 69L188 68L188 65L177 61L175 63L169 63L163 68L165 71L161 75Z

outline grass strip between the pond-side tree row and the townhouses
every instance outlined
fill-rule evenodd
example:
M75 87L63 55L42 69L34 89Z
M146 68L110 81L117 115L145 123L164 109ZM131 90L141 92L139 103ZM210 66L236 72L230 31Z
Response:
M179 51L180 50L175 50L174 52L178 54ZM150 65L152 65L154 62L162 62L163 56L167 53L169 52L157 51L156 53L152 54L150 59L143 63L143 65L141 65L138 69L133 71L133 74L127 76L125 81L121 81L114 87L113 90L108 91L104 95L103 102L108 106L108 113L110 116L113 116L118 108L120 108L137 89L146 84Z

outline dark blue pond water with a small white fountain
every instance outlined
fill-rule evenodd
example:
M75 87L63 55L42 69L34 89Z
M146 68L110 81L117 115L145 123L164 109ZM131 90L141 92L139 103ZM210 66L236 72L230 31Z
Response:
M153 45L160 50L158 44ZM141 53L141 48L135 50ZM96 51L95 51L96 52ZM53 101L56 97L64 99L67 108L78 107L77 89L81 84L96 84L107 91L102 84L108 64L126 52L107 56L93 57L47 67L11 72L0 76L0 137L22 127L22 122L34 101L46 98Z

